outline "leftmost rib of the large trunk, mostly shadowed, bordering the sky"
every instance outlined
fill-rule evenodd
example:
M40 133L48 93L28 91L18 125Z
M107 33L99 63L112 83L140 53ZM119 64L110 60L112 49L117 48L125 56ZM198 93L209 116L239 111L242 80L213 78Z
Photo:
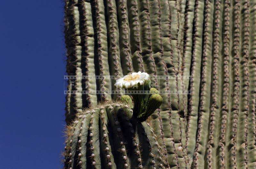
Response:
M82 111L82 83L81 83L81 46L80 46L80 31L79 31L79 11L73 2L67 2L65 6L65 40L67 48L67 73L68 75L77 75L80 77L73 78L68 82L69 92L67 103L70 109L69 114L66 114L66 121L70 123L75 117L76 112Z

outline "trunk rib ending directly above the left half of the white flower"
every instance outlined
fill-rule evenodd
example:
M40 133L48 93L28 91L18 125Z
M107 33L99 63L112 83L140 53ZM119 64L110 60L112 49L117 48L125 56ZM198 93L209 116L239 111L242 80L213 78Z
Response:
M119 24L119 47L123 74L133 72L131 49L130 49L130 28L126 0L116 1L117 19Z

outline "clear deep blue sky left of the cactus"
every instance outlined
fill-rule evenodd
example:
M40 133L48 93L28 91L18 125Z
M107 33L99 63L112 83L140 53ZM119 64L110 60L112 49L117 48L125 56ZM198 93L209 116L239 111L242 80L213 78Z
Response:
M64 0L1 1L1 169L62 168L63 6Z

